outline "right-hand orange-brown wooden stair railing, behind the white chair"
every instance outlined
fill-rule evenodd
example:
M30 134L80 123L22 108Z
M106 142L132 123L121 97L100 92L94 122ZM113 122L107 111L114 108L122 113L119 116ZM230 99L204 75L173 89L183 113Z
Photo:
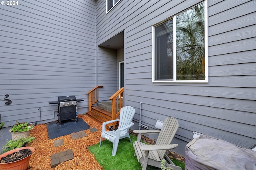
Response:
M112 120L114 120L120 114L121 108L124 107L124 88L120 88L109 100L112 100Z

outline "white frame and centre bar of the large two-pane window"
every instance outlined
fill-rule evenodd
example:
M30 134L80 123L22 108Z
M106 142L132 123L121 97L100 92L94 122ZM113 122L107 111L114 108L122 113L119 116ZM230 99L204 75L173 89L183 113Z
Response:
M203 2L201 2L203 3ZM199 4L201 4L199 3ZM196 4L198 5L198 4ZM195 5L195 6L196 6ZM205 80L176 80L176 38L173 39L173 80L155 80L155 27L168 21L173 20L173 37L176 37L176 14L160 23L152 26L152 82L158 83L208 83L208 10L207 0L204 1L204 60L205 60ZM186 11L186 10L184 10ZM182 11L182 12L184 12Z

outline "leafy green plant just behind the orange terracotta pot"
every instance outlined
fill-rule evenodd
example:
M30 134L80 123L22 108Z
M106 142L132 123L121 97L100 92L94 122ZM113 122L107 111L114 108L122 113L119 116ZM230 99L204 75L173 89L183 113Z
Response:
M16 141L9 140L6 144L3 145L2 153L8 152L9 150L20 148L20 147L26 147L29 143L34 141L35 137L26 137L22 139L18 139Z

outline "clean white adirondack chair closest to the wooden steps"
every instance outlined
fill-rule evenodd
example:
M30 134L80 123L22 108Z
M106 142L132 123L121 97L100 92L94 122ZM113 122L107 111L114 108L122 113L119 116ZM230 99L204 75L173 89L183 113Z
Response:
M135 114L135 109L133 107L125 106L121 108L120 119L110 120L102 123L100 145L101 145L102 138L105 138L108 141L112 142L113 143L112 156L116 155L119 139L128 137L130 142L132 142L129 135L129 128L134 125L134 123L132 123L132 118L134 114ZM115 121L119 121L118 129L114 131L106 131L106 125L109 123L113 123Z

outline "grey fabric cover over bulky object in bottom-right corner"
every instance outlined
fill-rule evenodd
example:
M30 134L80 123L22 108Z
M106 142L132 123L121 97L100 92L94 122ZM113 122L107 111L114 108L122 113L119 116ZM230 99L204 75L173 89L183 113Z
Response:
M186 145L186 169L256 170L256 151L201 135Z

